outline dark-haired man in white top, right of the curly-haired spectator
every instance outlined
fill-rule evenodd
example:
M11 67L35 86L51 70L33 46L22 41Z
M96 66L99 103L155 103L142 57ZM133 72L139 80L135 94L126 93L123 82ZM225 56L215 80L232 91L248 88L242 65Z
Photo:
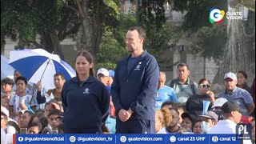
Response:
M165 127L158 131L157 134L177 134L181 126L178 125L178 110L170 108L170 114L172 115L171 121L165 123Z

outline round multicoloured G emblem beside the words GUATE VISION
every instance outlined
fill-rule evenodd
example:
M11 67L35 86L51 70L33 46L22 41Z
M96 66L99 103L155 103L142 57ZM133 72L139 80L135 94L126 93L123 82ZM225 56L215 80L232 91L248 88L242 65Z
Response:
M225 15L224 10L218 10L218 9L215 9L215 8L211 8L210 9L210 15L209 15L210 23L214 23L214 22L220 23L220 22L222 22L222 19L224 18L224 15Z

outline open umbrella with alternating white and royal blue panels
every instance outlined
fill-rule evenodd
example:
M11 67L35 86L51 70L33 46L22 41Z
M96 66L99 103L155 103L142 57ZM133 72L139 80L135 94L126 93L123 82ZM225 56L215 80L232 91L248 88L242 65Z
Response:
M18 70L29 82L40 80L46 90L53 89L54 74L62 73L66 80L75 76L70 65L62 61L57 54L50 54L42 49L10 51L10 66Z

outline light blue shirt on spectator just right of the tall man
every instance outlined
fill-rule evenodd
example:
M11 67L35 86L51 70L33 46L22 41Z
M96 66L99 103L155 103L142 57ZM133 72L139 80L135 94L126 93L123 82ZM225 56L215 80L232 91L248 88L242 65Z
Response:
M174 92L174 89L170 88L169 86L163 86L157 91L155 109L160 110L162 103L166 101L178 102L178 98Z

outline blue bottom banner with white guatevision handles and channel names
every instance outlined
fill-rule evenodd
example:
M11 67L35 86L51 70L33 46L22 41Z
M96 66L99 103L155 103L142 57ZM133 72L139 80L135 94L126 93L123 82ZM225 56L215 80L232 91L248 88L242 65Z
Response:
M234 134L14 134L10 143L207 144L250 142Z

